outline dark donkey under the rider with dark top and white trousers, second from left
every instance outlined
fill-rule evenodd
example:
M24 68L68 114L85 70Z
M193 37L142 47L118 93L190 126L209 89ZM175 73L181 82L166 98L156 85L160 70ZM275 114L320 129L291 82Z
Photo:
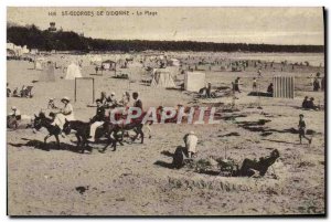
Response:
M85 149L88 148L88 136L90 129L90 123L84 123L79 120L68 121L65 119L65 124L63 126L63 131L68 135L71 130L75 130L75 135L77 137L77 147L81 147L81 152L83 154ZM96 130L96 138L100 138L105 136L108 139L108 144L103 148L102 151L105 151L107 147L111 144L113 151L116 150L116 141L117 139L111 138L111 134L114 133L115 127L109 124L104 124L102 127ZM114 135L116 138L116 135ZM92 151L92 148L88 149Z

